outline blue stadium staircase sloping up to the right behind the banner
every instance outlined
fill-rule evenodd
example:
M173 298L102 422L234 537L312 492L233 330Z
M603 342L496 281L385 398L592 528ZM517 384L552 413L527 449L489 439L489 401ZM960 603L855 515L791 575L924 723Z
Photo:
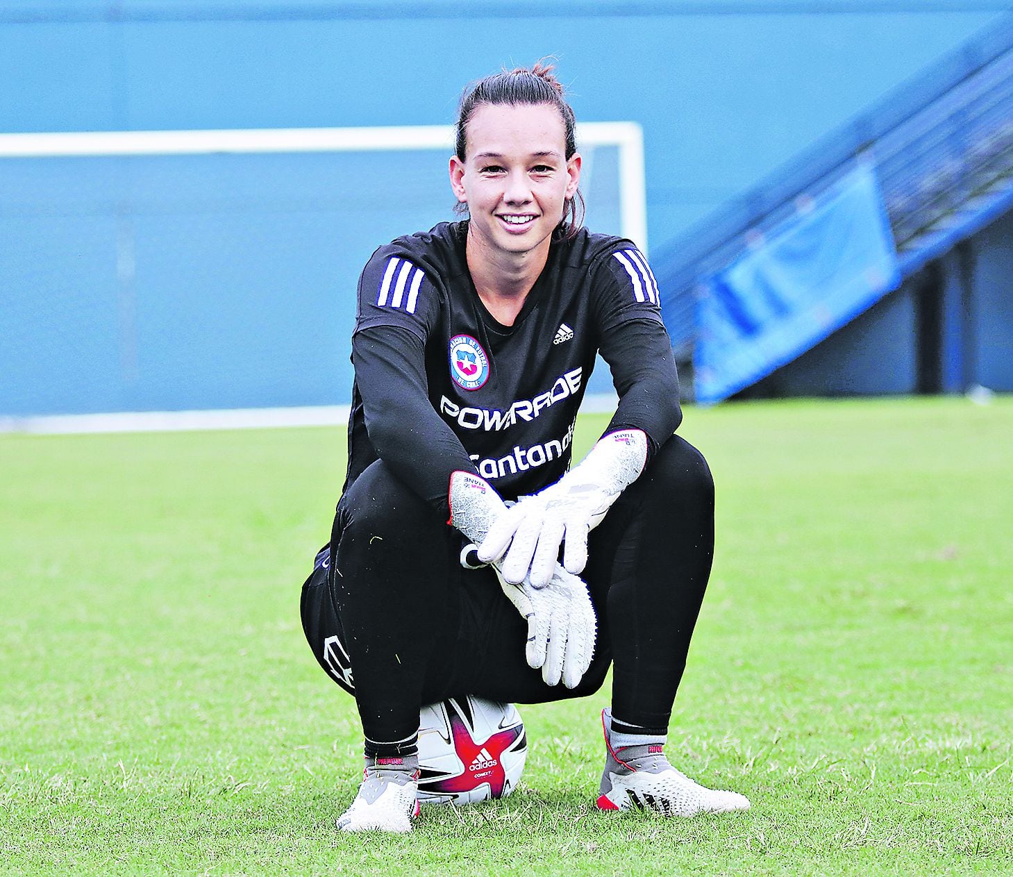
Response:
M1013 208L1013 15L652 251L681 369L692 371L707 278L790 231L857 166L874 171L900 281Z

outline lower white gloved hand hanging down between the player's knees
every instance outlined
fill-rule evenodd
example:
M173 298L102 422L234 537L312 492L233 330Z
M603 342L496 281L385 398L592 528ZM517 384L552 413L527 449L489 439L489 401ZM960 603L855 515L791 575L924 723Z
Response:
M499 585L521 616L528 621L528 665L542 669L548 686L576 688L591 666L598 622L588 585L558 563L541 588L530 581L513 584L493 565Z

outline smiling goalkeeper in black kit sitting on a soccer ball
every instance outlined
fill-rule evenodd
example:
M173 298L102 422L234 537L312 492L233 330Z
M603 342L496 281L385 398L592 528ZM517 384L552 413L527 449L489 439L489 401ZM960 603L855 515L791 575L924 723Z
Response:
M579 177L552 69L482 79L450 159L467 218L380 247L363 270L346 480L302 597L366 740L343 830L410 829L423 704L582 697L610 664L598 805L749 807L663 752L710 573L713 482L674 434L654 277L630 241L581 228ZM599 351L619 406L571 468Z

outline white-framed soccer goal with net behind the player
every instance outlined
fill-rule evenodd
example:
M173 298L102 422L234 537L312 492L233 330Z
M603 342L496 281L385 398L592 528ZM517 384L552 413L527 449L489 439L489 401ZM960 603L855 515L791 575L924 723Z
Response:
M454 219L452 143L442 126L0 135L0 426L340 419L320 406L348 402L359 272ZM588 225L645 249L639 126L586 123L577 143Z

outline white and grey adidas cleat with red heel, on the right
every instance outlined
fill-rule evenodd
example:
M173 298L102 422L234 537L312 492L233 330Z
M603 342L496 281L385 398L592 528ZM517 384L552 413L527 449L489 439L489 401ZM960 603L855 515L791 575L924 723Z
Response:
M696 816L748 810L750 801L737 792L708 789L677 771L660 745L609 749L598 796L601 810L652 810L663 816Z

